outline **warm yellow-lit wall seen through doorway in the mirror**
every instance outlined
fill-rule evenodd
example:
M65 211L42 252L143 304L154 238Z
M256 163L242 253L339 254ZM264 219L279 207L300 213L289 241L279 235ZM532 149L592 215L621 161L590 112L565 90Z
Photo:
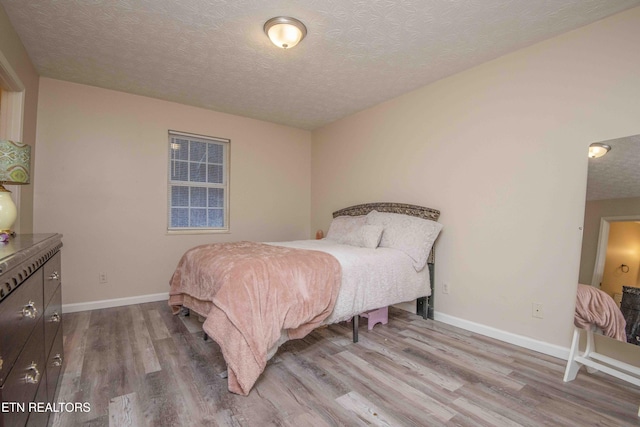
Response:
M623 286L636 286L640 266L640 224L612 222L600 289L611 297L622 294ZM626 268L622 268L626 265Z

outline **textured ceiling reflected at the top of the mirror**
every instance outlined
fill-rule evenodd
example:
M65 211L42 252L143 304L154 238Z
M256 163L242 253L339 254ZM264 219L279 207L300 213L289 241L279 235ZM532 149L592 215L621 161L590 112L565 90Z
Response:
M587 200L640 197L640 135L603 142L611 151L589 159Z

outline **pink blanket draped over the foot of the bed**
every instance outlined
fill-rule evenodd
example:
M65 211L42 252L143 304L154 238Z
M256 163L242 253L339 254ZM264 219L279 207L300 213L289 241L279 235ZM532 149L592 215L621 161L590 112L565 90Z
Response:
M204 331L222 349L229 391L248 395L282 330L302 338L333 310L338 261L319 251L253 242L197 246L171 279L169 305L206 316Z

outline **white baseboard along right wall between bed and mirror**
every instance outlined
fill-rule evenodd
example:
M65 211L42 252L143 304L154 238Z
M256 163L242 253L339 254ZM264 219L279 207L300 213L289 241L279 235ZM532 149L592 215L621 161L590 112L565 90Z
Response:
M495 338L509 344L517 345L518 347L528 348L529 350L557 357L558 359L569 359L568 347L565 348L559 345L549 344L548 342L538 341L533 338L513 334L511 332L496 329L491 326L482 325L480 323L471 322L469 320L460 319L459 317L450 316L448 314L436 312L434 313L434 320L446 323L448 325L457 326L458 328L475 332L480 335Z

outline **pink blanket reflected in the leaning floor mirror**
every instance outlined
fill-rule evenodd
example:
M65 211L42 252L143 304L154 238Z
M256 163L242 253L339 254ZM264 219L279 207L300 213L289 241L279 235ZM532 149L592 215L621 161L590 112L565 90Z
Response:
M627 341L626 321L620 308L606 292L593 286L578 285L573 323L583 329L591 329L595 325L606 336Z

